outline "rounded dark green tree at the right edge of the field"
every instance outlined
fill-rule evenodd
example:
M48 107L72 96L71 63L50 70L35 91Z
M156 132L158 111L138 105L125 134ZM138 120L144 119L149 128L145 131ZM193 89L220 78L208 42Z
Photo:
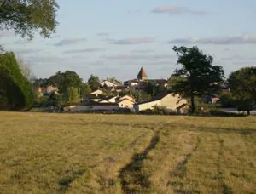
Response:
M256 102L256 67L245 67L232 72L228 82L238 110L247 111L249 115Z

